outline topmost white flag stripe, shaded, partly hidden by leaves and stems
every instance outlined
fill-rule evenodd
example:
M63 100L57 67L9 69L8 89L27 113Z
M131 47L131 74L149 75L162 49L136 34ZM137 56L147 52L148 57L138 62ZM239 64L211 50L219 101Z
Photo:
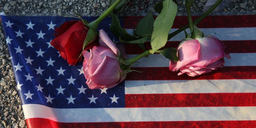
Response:
M171 29L170 33L177 29ZM132 35L133 29L126 29L128 33ZM189 29L186 29L187 33L190 33ZM205 35L213 35L219 40L256 40L256 27L250 28L201 28L201 31ZM181 32L175 35L169 41L181 41L185 38L185 33Z

